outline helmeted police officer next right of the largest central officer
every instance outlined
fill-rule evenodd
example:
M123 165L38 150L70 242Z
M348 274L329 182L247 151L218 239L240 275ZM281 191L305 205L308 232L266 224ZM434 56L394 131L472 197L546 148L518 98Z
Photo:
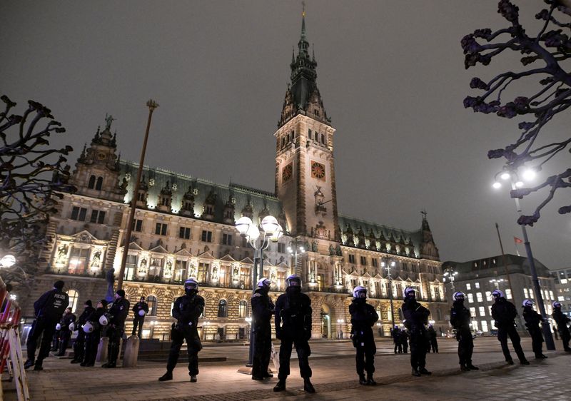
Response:
M353 289L353 301L349 305L351 315L351 338L353 346L357 349L355 360L360 385L376 385L373 380L375 372L375 353L377 347L373 337L373 325L379 320L373 305L367 303L367 289L358 285ZM367 379L365 380L365 371Z

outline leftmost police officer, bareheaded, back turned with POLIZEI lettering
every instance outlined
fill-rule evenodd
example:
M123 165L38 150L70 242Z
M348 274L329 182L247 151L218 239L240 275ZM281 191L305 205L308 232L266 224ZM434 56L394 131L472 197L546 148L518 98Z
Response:
M28 336L28 359L24 363L26 369L35 365L34 370L44 370L41 365L44 358L49 355L51 337L54 335L56 324L61 319L61 315L69 305L69 295L62 291L63 288L64 282L61 280L56 281L54 288L41 295L34 303L36 320L34 320ZM36 345L41 335L43 336L38 359L36 360Z

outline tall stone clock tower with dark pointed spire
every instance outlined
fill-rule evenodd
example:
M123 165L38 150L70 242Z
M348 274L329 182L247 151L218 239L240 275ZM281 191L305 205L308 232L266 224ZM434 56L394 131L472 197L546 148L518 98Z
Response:
M339 240L333 134L315 82L315 55L309 55L302 14L298 54L292 54L291 83L283 101L276 137L276 194L283 203L290 235Z

